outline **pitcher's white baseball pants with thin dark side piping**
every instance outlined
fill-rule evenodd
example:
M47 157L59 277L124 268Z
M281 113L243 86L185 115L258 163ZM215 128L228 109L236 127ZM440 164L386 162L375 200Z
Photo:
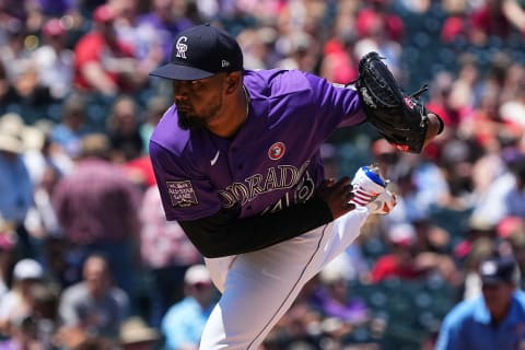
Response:
M303 285L355 240L368 215L366 208L357 208L271 247L206 259L222 296L199 349L256 350Z

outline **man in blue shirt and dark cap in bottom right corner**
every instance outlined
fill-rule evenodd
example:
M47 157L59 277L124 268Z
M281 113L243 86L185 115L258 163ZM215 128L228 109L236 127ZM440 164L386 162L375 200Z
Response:
M446 316L436 350L525 349L525 292L510 257L491 257L479 266L482 295L456 305Z

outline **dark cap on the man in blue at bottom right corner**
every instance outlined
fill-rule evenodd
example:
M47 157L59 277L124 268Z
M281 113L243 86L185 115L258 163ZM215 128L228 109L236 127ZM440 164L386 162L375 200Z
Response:
M512 257L491 257L479 265L479 276L483 284L517 284L520 270Z

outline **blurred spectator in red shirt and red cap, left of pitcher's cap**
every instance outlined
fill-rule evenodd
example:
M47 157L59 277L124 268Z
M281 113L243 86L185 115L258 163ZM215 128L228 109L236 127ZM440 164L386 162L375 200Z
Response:
M108 4L93 12L93 30L74 46L74 86L81 91L114 96L132 92L148 81L147 72L137 70L132 47L117 37L116 11Z

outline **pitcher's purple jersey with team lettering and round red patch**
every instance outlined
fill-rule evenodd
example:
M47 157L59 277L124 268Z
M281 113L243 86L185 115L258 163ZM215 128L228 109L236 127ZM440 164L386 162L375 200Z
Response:
M320 144L365 116L358 93L310 73L245 71L249 114L234 138L182 130L173 105L150 141L167 220L241 207L241 218L310 199L324 179Z

